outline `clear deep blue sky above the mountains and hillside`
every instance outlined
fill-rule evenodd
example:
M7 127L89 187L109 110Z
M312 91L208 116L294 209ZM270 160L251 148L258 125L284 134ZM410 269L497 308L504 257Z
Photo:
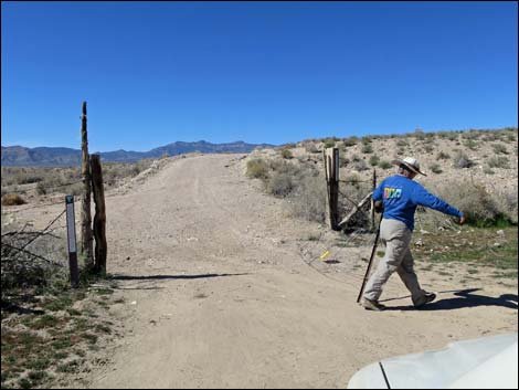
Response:
M517 126L516 2L1 3L2 146Z

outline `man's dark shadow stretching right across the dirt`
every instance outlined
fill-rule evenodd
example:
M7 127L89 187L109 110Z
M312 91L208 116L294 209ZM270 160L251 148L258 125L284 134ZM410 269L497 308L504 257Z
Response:
M474 292L480 291L481 288L467 288L456 291L454 295L455 298L439 299L426 304L420 308L415 308L412 305L409 306L388 306L386 310L453 310L464 307L478 307L478 306L499 306L507 307L511 309L517 309L517 294L501 294L499 297L491 297L486 295L473 294ZM451 292L439 292L451 293ZM392 299L385 299L392 301ZM382 301L381 301L382 302Z

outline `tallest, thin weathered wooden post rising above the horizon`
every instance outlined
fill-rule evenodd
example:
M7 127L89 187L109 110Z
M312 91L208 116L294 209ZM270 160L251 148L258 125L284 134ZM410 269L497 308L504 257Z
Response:
M88 159L88 136L86 133L86 102L83 102L83 115L81 117L81 149L82 149L82 176L83 196L81 199L81 252L85 255L86 266L92 268L92 217L91 217L91 165Z

